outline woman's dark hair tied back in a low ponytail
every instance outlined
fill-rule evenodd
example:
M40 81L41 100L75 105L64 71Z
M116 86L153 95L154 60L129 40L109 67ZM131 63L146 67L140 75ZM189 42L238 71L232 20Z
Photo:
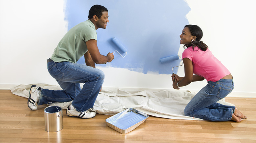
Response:
M202 37L203 37L202 29L199 26L197 26L197 25L186 25L184 27L188 27L191 35L192 36L196 36L197 38L194 41L192 41L191 43L184 45L183 47L184 48L185 47L188 48L188 47L192 46L192 48L194 50L194 48L197 46L202 51L206 51L208 49L208 46L206 44L204 44L203 41L200 41L202 39Z

